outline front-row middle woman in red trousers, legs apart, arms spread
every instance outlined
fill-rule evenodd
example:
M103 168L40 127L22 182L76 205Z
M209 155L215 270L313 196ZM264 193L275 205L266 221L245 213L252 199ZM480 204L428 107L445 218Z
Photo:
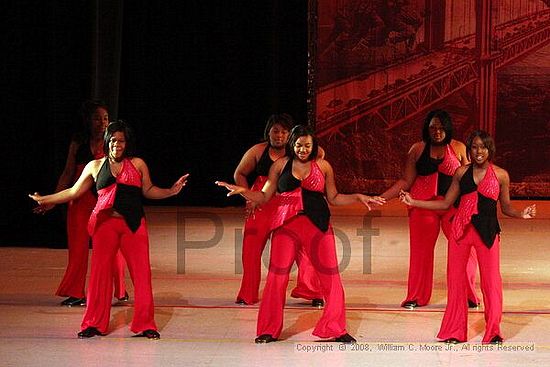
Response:
M289 272L301 248L311 259L325 300L323 315L313 335L337 342L355 342L346 330L344 289L327 200L331 205L361 202L369 209L369 204L383 204L385 200L362 194L339 194L332 167L326 160L316 159L317 150L313 130L298 125L291 131L286 156L273 163L262 191L216 182L229 190L228 196L241 194L259 204L271 199L275 191L279 193L273 198L277 206L271 217L271 258L258 314L256 343L274 342L281 334Z

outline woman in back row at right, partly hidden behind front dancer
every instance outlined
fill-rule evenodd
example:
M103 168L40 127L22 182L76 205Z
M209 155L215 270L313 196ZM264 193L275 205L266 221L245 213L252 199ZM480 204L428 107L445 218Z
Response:
M407 154L403 177L382 195L396 198L401 190L411 191L420 200L441 200L460 166L469 163L466 146L453 139L451 116L434 110L424 119L422 141L414 143ZM455 208L432 211L409 208L410 259L408 289L401 307L414 309L430 302L433 289L434 249L440 228L449 238ZM472 250L468 260L468 306L475 308L479 298L475 291L477 261Z

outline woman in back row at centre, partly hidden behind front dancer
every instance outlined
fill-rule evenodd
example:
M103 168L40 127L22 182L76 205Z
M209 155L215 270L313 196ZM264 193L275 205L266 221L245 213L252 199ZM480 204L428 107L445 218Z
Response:
M292 117L286 113L271 115L264 130L264 142L254 145L242 157L233 175L235 183L249 188L248 182L256 177L251 190L259 191L267 181L269 168L274 161L285 155L285 145L290 129L294 126ZM318 158L323 158L324 151L319 149ZM260 280L262 276L262 253L271 234L270 220L276 205L273 201L255 207L247 201L247 217L243 231L243 277L237 295L237 304L252 305L258 302ZM314 307L322 307L319 279L304 253L297 256L298 278L291 297L311 300Z

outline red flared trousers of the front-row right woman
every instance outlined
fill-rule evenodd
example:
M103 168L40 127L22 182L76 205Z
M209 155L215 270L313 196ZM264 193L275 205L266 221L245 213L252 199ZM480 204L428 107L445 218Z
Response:
M437 337L441 340L455 338L468 340L468 305L466 266L471 249L474 248L479 261L481 292L485 312L485 335L483 343L495 336L502 337L502 278L500 276L500 238L497 235L493 246L487 248L474 226L469 224L459 242L449 241L447 263L447 308Z

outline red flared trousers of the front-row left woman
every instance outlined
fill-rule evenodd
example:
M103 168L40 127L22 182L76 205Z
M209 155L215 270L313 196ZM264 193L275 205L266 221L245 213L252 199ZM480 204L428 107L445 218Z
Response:
M145 218L142 218L138 230L132 233L123 218L101 216L92 242L92 268L82 330L95 327L101 333L107 332L113 293L112 264L119 249L126 259L134 283L134 317L130 330L134 333L156 330Z

